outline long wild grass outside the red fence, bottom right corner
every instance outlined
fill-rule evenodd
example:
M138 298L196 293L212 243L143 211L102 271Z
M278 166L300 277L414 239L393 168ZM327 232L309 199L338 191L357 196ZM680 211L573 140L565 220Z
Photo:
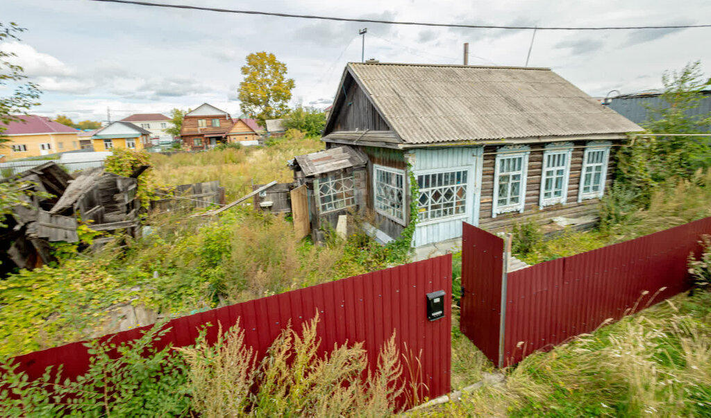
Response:
M479 365L472 363L476 370ZM461 373L454 361L452 368L454 383ZM709 417L711 293L668 299L534 354L506 376L503 385L484 386L461 402L412 415Z

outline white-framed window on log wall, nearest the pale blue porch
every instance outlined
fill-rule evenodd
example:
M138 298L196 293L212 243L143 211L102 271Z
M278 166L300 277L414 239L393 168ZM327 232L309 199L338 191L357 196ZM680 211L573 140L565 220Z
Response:
M506 212L523 212L529 153L527 146L499 148L493 177L493 218Z

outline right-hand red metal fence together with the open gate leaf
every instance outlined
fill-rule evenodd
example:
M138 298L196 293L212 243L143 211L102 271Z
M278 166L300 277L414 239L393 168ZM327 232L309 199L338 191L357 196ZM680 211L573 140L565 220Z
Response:
M503 240L464 224L461 331L496 365L518 363L687 290L703 234L711 218L503 275Z

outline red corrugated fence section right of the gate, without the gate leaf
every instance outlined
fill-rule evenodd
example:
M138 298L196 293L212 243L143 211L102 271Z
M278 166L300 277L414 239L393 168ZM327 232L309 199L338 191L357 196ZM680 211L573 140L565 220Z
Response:
M705 233L711 218L510 273L506 364L688 289L687 258Z

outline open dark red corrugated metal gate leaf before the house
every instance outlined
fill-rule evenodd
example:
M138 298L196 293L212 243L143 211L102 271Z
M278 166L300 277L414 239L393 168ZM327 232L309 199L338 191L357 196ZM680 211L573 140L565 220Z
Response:
M459 329L498 364L503 239L470 224L463 228Z

